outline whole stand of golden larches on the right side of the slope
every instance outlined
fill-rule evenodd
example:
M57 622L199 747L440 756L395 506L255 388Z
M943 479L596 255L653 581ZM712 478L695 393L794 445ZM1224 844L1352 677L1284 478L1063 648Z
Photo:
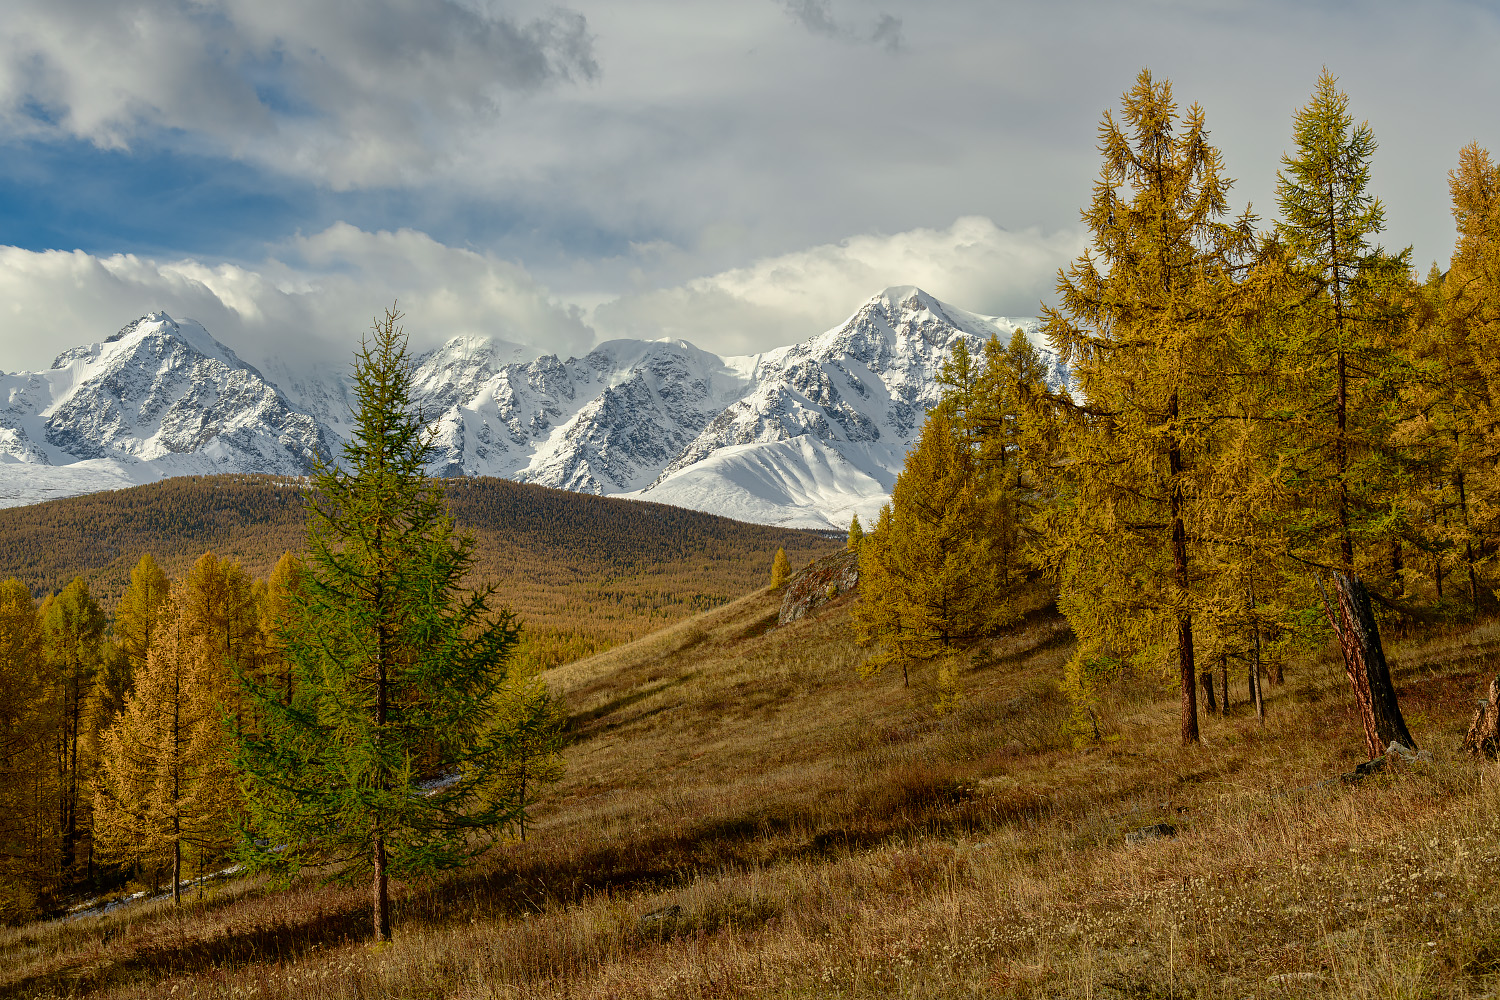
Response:
M1167 675L1192 742L1200 682L1209 709L1232 673L1254 697L1326 640L1332 573L1388 625L1494 609L1500 168L1460 151L1458 244L1419 276L1378 241L1376 139L1326 72L1292 147L1264 223L1230 214L1204 112L1170 84L1143 72L1106 114L1090 246L1044 306L1071 384L1020 331L954 354L862 543L876 663L942 663L1047 579L1083 729L1104 685Z

